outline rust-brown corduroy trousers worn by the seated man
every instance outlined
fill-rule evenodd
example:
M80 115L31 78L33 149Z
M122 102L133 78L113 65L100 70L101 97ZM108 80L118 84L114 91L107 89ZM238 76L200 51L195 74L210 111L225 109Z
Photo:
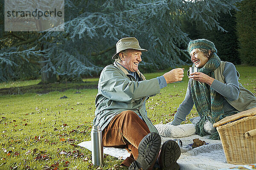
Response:
M114 116L102 131L104 147L125 148L131 153L122 165L130 164L138 158L140 141L150 133L146 123L133 111L123 111Z

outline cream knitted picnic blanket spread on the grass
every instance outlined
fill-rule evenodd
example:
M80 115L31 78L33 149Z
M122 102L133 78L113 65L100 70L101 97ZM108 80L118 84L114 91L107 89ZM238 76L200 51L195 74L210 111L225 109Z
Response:
M239 166L227 163L220 140L212 140L209 139L209 136L201 137L195 134L194 124L155 126L161 135L162 144L169 139L180 139L182 141L183 147L180 148L181 155L177 160L180 170L219 170ZM196 138L205 141L207 144L192 149L191 144L193 143L193 139ZM91 141L81 142L78 145L91 150ZM113 147L104 147L103 153L119 159L125 159L130 156L127 150Z

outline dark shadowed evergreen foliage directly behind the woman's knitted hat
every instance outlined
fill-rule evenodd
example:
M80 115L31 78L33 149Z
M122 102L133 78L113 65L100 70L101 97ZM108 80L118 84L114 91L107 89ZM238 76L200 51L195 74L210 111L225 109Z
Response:
M241 59L238 55L238 37L236 36L236 11L231 11L231 14L220 14L218 22L225 29L220 31L218 28L212 30L202 29L202 23L196 24L193 21L183 20L182 30L189 34L189 38L207 39L215 44L218 51L218 57L223 61L232 62L233 64L241 64Z

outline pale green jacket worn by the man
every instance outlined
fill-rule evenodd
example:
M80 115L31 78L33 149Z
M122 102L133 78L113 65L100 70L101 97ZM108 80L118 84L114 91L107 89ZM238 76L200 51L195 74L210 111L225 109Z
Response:
M148 96L160 92L159 82L157 78L146 80L140 71L137 74L139 82L116 62L102 70L95 99L94 125L99 125L103 130L114 116L130 110L142 116L151 132L157 132L148 119L145 102Z

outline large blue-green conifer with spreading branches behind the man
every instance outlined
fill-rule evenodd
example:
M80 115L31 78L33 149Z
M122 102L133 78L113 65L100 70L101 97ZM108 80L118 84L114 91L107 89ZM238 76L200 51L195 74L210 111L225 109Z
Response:
M65 0L63 32L4 32L0 25L0 81L20 79L15 73L21 72L32 77L31 70L35 73L38 69L48 78L55 74L67 79L99 74L103 66L113 62L115 44L122 37L136 37L148 49L140 69L184 65L190 60L183 48L189 37L181 30L180 18L202 23L204 29L223 31L219 14L230 14L239 1Z

